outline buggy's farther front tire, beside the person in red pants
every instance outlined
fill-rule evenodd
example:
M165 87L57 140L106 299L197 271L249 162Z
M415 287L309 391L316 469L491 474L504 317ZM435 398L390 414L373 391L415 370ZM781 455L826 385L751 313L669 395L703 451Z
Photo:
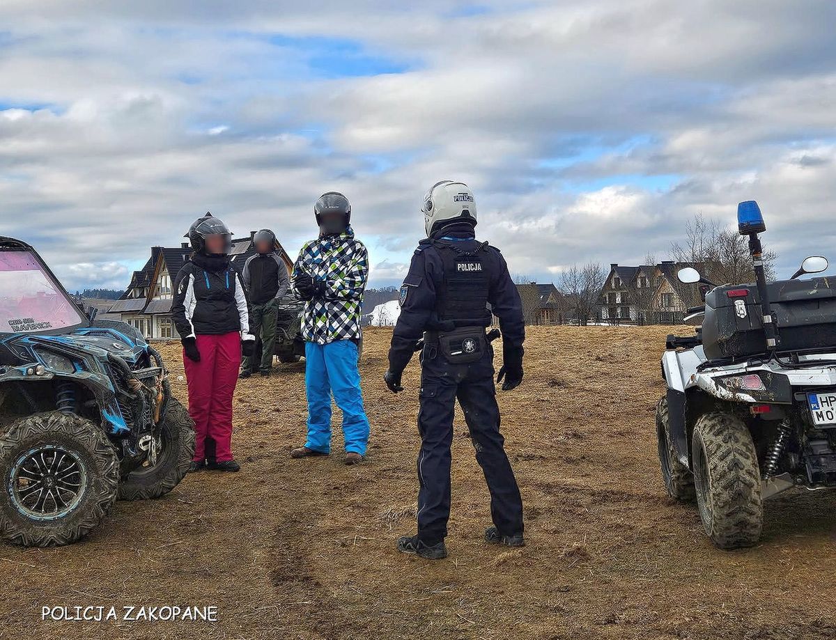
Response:
M121 500L149 500L166 495L183 480L195 455L194 423L180 402L170 399L161 429L161 451L156 464L131 471L119 485Z

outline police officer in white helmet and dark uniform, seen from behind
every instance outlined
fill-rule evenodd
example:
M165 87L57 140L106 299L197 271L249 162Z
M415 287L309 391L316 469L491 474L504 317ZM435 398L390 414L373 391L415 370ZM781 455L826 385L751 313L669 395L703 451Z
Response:
M401 373L422 336L418 430L418 533L398 550L433 560L446 557L450 517L450 446L456 399L465 414L476 457L491 493L492 544L523 546L523 501L499 433L493 386L493 348L485 333L491 311L502 328L502 390L523 381L522 304L498 249L474 237L476 202L467 185L442 180L422 206L427 237L412 257L400 287L400 317L389 351L385 383L403 390Z

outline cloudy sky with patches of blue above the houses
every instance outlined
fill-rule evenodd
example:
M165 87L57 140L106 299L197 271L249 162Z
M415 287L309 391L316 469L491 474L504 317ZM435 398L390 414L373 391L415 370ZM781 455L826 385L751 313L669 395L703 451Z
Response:
M665 257L757 199L836 262L836 3L3 0L0 234L125 287L211 210L292 255L341 190L395 284L465 180L512 272Z

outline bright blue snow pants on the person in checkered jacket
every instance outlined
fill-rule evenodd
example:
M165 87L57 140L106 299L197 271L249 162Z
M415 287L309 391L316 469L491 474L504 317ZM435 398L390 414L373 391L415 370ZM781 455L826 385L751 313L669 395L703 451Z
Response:
M308 394L308 439L314 451L331 450L331 394L343 412L345 452L365 455L369 419L360 393L357 345L351 340L305 343L305 389Z

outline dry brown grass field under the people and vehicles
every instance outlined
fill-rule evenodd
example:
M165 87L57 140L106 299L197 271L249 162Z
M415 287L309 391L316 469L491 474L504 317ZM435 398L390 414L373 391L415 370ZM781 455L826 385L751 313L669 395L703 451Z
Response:
M683 329L684 330L684 329ZM368 460L291 460L303 363L239 384L237 475L119 502L59 549L0 546L2 638L833 638L836 495L767 503L760 546L717 551L669 500L655 452L669 328L531 328L523 387L499 394L528 546L482 541L487 489L457 416L450 556L395 551L415 525L417 359L394 396L390 330L366 333ZM178 350L166 346L176 394ZM338 417L335 415L335 418ZM42 606L217 605L218 621L41 622Z

